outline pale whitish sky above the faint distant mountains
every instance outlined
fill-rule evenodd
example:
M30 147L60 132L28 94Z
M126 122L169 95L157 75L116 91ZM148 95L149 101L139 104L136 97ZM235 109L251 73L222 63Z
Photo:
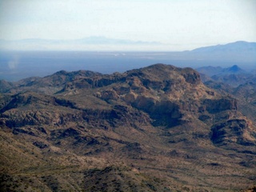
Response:
M89 37L159 44L81 49L191 50L256 42L256 1L0 0L0 39Z

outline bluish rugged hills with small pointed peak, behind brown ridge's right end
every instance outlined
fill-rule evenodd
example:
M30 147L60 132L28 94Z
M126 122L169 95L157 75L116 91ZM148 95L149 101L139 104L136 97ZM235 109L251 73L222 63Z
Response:
M204 84L223 95L230 94L238 101L238 109L256 121L256 74L239 66L222 68L206 66L197 69Z

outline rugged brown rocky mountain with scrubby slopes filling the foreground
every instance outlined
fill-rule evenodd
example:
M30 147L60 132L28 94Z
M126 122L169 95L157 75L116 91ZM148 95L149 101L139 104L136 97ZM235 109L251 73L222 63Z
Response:
M254 119L190 68L59 71L0 85L3 191L230 191L255 184Z

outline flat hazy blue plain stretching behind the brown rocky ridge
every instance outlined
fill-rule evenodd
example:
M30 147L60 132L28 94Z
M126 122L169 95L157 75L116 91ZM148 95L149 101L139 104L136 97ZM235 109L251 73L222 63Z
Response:
M198 57L190 52L0 51L0 79L18 81L59 70L92 70L102 74L165 63L174 66L233 66L254 70L254 62Z

